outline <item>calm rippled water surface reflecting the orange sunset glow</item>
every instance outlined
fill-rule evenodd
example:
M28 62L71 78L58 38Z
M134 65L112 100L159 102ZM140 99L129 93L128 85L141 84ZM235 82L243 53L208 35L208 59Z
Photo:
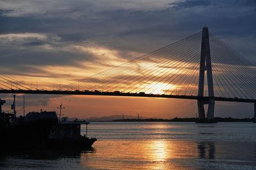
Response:
M256 169L252 123L92 122L88 130L98 138L90 150L4 153L0 169Z

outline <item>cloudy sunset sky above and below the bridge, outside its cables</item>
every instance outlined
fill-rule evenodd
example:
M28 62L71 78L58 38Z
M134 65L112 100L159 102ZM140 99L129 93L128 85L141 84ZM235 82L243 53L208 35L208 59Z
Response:
M253 0L0 0L0 71L38 89L58 88L201 31L206 24L256 62ZM140 97L25 95L26 111L68 117L195 117L196 101ZM10 111L12 96L1 94ZM22 95L18 95L22 107ZM20 113L21 114L21 111ZM216 103L216 117L252 117L252 104Z

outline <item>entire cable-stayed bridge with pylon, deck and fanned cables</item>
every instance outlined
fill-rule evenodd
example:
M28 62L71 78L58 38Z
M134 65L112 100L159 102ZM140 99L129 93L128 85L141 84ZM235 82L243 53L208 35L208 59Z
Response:
M56 90L40 90L0 73L0 93L196 99L198 117L211 120L215 101L254 103L256 110L255 73L252 62L203 27L188 38ZM256 111L254 116L256 120Z

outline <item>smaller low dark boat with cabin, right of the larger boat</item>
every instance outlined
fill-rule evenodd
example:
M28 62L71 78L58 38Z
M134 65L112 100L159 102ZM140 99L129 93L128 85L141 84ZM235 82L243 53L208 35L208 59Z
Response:
M61 112L61 111L60 111ZM86 134L81 135L81 125L86 125ZM63 117L58 126L49 136L50 148L91 148L96 138L88 138L87 125L90 122L69 121L68 117Z

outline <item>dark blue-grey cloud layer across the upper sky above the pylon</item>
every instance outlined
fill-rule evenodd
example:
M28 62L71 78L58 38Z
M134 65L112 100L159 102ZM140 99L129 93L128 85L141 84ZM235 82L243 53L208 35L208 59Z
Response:
M63 52L65 45L70 45L72 41L96 42L122 52L150 52L151 49L200 31L204 24L209 25L210 31L216 36L225 39L249 59L255 60L252 58L255 51L247 51L247 44L254 43L256 34L255 1L174 1L169 5L163 4L163 8L156 10L125 9L122 8L122 3L120 8L104 10L99 3L85 1L81 6L77 3L60 1L57 4L62 5L63 10L45 9L41 13L37 11L33 13L34 6L31 6L31 13L19 11L20 14L17 12L14 16L12 15L15 13L14 7L2 9L1 34L34 32L49 34L60 39L58 41L52 41L51 38L44 41L33 39L23 44L16 44L14 49L13 44L4 47L2 44L0 50L3 56L23 52L26 52L26 55L15 56L15 60L12 56L6 57L2 60L1 67L19 67L22 62L32 65L62 66L93 60L93 56L77 53L76 50ZM67 8L67 5L70 6ZM240 41L232 41L239 38ZM52 46L54 50L47 51L42 45ZM86 43L83 45L86 46ZM12 63L12 66L8 63Z

